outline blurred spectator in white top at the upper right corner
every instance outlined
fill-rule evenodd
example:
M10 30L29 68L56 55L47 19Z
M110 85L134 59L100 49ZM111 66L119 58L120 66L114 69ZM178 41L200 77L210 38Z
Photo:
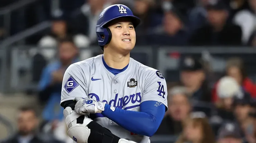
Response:
M245 9L237 12L234 16L234 23L242 29L242 42L247 45L250 36L253 34L256 25L256 1L248 0L250 9Z

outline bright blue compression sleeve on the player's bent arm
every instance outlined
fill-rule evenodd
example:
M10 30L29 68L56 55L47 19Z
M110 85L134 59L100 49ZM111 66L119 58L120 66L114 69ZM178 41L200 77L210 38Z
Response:
M165 105L156 104L157 101L145 101L140 104L140 112L129 111L116 108L110 109L110 105L105 105L102 115L122 126L126 130L145 136L152 136L161 124Z

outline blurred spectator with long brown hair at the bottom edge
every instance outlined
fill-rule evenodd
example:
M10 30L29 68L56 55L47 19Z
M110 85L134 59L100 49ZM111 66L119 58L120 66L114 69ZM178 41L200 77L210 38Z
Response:
M214 133L203 112L193 112L185 121L184 130L175 143L215 143Z

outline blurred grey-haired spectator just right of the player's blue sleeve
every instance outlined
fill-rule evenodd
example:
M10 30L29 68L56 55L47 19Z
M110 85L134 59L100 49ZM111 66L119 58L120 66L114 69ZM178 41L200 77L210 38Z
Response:
M168 91L168 111L155 134L178 135L182 123L191 111L190 93L185 87L173 87Z

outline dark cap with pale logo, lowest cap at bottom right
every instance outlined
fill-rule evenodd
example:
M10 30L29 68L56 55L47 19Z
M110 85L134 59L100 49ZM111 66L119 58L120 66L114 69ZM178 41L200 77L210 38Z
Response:
M219 129L218 139L223 139L225 137L242 138L238 124L232 122L224 123Z

